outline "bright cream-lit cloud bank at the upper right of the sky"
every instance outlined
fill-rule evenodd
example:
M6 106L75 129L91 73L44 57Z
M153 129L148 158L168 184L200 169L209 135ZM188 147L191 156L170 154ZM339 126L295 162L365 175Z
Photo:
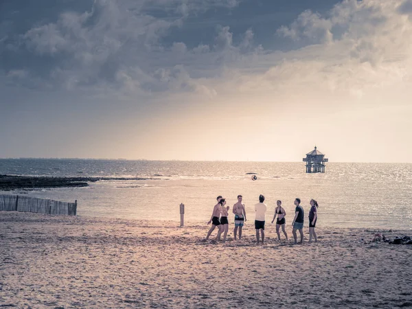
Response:
M232 70L237 74L227 73L225 78L237 76L232 80L236 91L353 98L408 83L412 72L412 24L398 12L401 4L347 0L326 16L306 11L290 26L277 31L293 40L308 40L306 47L281 55L266 51L255 60L250 54L244 55L242 58L255 67L267 64L268 69L251 73L249 67L238 66Z

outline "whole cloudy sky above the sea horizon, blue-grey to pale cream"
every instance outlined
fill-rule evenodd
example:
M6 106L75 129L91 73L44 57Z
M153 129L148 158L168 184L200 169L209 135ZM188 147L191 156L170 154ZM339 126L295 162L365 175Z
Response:
M412 163L412 0L1 0L0 157Z

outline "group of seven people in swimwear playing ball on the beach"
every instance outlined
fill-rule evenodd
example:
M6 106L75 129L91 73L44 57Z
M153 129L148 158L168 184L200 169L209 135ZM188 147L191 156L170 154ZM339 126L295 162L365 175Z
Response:
M244 222L247 221L246 218L246 210L244 207L244 203L242 203L242 196L238 195L238 202L233 205L233 214L235 215L235 228L233 229L233 236L234 239L237 240L239 238L242 239L242 227ZM218 235L216 236L216 240L221 240L221 235L223 233L223 242L226 242L227 232L229 231L229 220L227 217L229 216L229 206L226 206L226 199L222 198L222 196L218 196L216 198L218 203L214 206L213 212L211 213L211 218L207 224L211 224L211 228L207 232L206 240L209 240L211 233L218 228ZM300 205L301 200L300 198L295 198L295 217L292 221L293 226L293 238L295 239L295 244L297 244L297 231L300 234L300 242L304 241L304 208ZM276 220L276 233L277 238L280 240L280 228L282 227L282 231L286 240L288 240L288 233L286 233L285 225L286 225L286 211L284 207L282 207L282 201L277 201L277 207L275 208L275 214L273 216L272 223ZM315 242L317 242L317 234L314 231L317 222L317 208L319 207L317 201L314 199L310 200L310 211L309 211L309 242L312 242L312 238ZM262 244L264 243L264 224L265 224L265 216L266 216L267 205L264 203L264 196L260 194L259 196L259 203L255 204L255 230L256 230L256 240L259 244L262 238ZM276 218L277 217L277 218Z

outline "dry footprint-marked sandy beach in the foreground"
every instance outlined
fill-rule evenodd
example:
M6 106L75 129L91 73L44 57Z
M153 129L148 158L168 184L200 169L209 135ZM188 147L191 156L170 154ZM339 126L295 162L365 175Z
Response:
M412 306L412 246L361 241L374 231L318 228L319 242L295 246L268 225L262 246L252 222L237 242L231 224L226 244L177 225L0 212L0 307Z

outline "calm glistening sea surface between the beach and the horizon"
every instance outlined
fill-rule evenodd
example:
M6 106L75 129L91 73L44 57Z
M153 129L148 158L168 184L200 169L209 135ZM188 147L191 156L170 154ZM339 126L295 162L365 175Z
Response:
M251 172L257 173L257 181L247 174ZM408 163L327 163L325 174L306 174L304 162L0 159L0 174L155 178L5 192L78 200L79 216L179 221L179 204L184 203L185 220L207 222L216 196L233 205L242 194L253 222L253 205L264 194L266 221L272 219L279 199L290 225L293 201L299 197L306 217L310 199L318 201L320 227L412 229L412 164Z

